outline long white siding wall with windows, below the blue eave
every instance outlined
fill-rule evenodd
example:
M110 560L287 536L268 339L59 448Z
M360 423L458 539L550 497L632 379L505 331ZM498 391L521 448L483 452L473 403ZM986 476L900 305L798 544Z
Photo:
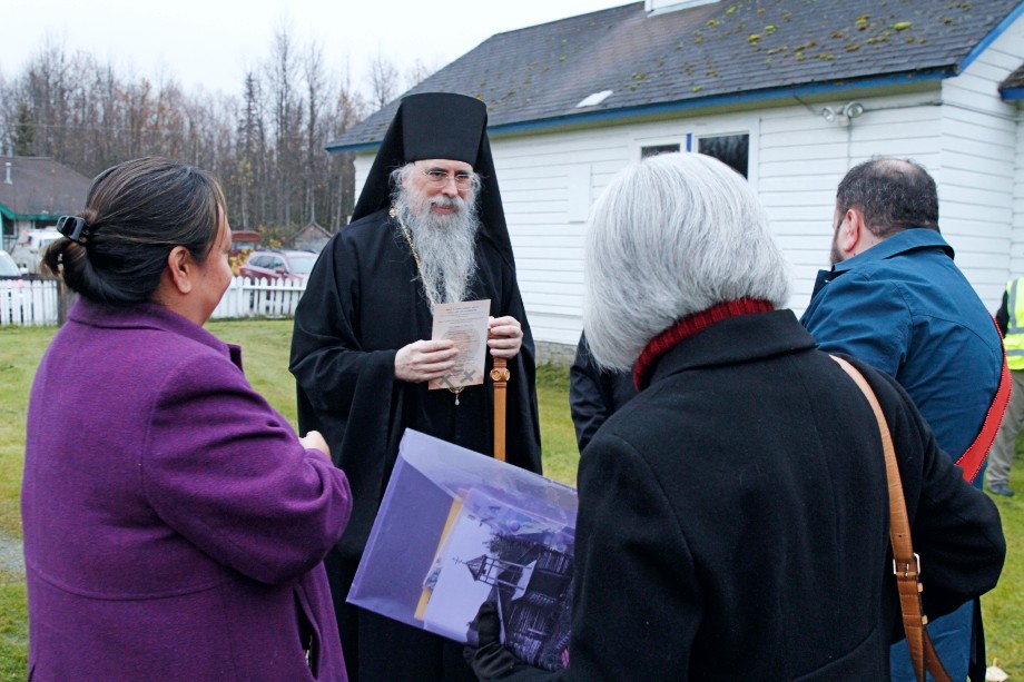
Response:
M590 202L646 146L692 149L706 135L750 135L749 179L792 267L789 305L799 315L815 276L828 265L836 186L850 165L876 155L906 156L932 169L939 158L938 90L861 98L863 116L840 127L824 106L695 116L603 129L492 139L523 302L536 340L574 345L582 328L584 220L570 219L572 180L589 177ZM356 159L362 187L373 160ZM580 172L580 169L584 172Z

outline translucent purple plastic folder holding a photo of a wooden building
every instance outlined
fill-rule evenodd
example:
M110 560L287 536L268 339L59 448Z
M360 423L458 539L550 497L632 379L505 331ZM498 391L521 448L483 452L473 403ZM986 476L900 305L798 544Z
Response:
M406 432L348 601L462 643L494 601L513 653L564 668L575 504L561 483Z

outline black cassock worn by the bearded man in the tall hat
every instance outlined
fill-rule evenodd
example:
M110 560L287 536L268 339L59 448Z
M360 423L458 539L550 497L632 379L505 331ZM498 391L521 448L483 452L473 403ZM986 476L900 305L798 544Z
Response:
M506 457L511 464L540 473L533 337L515 269L484 238L477 239L476 264L466 300L490 299L492 316L511 315L523 329L522 348L509 360ZM456 406L455 396L446 389L430 391L426 382L395 379L398 348L431 338L432 324L415 260L386 210L356 220L332 238L295 313L289 369L298 383L299 429L324 435L334 463L344 470L352 486L354 506L348 528L337 553L327 560L343 630L342 611L352 609L344 605L344 599L405 428L493 456L490 380L467 386ZM488 354L488 370L490 367ZM343 644L352 646L349 639L343 634ZM408 643L372 645L366 639L364 633L358 645L361 659L412 654L393 649ZM367 651L368 646L376 651ZM344 653L351 659L357 652L346 649Z

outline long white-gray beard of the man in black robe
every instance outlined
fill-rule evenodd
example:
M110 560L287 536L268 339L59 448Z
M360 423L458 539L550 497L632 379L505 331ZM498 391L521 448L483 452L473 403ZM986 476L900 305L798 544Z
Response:
M429 198L415 189L400 185L394 194L398 218L408 228L420 275L427 298L433 303L465 300L476 271L476 197L472 189L463 201L460 197ZM435 214L431 206L454 207L453 214ZM401 228L400 228L401 229Z

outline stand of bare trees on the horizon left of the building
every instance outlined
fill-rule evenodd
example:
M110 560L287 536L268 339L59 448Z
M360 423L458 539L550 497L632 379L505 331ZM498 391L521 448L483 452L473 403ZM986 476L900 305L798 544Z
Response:
M352 87L347 60L338 73L287 27L269 47L234 98L48 42L18 73L0 72L0 150L47 155L90 177L130 158L167 156L220 178L236 227L268 239L305 220L338 229L354 202L353 155L325 148L394 97L398 70L378 57L377 92L367 98Z

